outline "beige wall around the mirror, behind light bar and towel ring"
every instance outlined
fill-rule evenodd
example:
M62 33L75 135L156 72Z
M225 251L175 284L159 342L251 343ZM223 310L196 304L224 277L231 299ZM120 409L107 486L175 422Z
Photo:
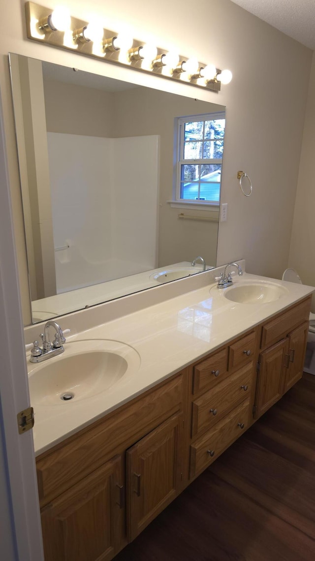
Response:
M51 0L49 6L57 3ZM99 0L91 0L86 8L81 0L67 0L67 4L82 19L95 10L111 29L120 19L129 21L135 36L144 40L152 31L162 47L168 47L166 38L170 38L184 55L231 68L233 81L216 95L45 47L26 39L23 2L12 0L1 8L0 86L25 318L28 287L7 61L10 51L226 105L222 201L228 203L228 221L220 224L218 264L244 257L250 272L279 277L288 263L311 50L229 0L196 0L185 10L181 0L161 0L159 10L147 0L138 0L137 10L127 0L119 6ZM239 190L238 169L252 179L251 197Z

